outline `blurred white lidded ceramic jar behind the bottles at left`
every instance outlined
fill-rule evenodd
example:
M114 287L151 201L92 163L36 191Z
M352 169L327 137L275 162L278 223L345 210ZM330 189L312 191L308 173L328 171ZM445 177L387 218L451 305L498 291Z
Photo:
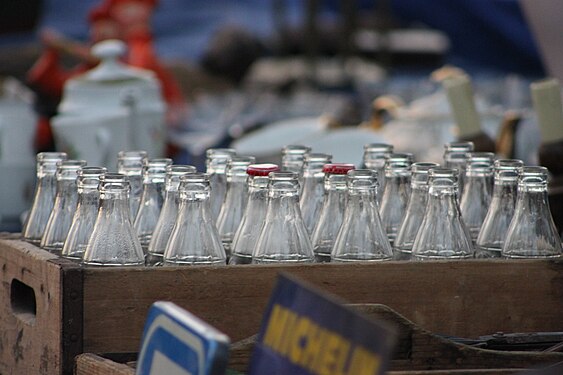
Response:
M100 64L65 84L51 124L57 149L69 158L113 167L122 150L163 156L166 104L160 83L152 72L121 63L125 49L118 40L97 43L92 53Z

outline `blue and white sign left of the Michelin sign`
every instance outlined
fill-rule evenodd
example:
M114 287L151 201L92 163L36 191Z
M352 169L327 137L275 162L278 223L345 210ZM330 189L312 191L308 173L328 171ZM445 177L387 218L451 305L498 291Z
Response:
M155 302L149 310L137 375L224 374L229 338L172 302Z

